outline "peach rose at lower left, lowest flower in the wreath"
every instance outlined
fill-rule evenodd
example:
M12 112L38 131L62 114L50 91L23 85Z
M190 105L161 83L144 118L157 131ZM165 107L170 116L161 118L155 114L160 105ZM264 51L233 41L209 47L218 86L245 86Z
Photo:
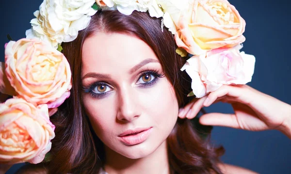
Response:
M50 150L54 128L46 104L35 107L22 98L1 103L0 162L41 162Z

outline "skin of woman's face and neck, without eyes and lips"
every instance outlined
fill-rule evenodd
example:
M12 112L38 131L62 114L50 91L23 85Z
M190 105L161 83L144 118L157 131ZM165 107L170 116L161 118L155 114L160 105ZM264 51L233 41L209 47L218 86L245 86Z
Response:
M101 98L88 90L82 92L86 114L106 146L105 170L110 174L169 173L165 140L177 121L178 101L164 75L141 85L145 83L143 72L163 74L153 50L135 36L99 32L85 40L82 63L83 88L100 81L108 85L103 89L107 95ZM108 77L89 76L92 73ZM98 87L92 91L100 93ZM151 127L145 142L129 146L120 141L119 134L140 127Z

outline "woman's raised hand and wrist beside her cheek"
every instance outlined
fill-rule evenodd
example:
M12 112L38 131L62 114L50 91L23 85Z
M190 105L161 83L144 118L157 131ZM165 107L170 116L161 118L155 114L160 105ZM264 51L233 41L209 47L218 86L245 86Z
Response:
M277 129L291 138L291 105L248 85L224 85L209 95L195 98L179 110L179 117L192 119L202 107L219 101L230 103L234 113L207 113L199 119L201 124L252 131Z

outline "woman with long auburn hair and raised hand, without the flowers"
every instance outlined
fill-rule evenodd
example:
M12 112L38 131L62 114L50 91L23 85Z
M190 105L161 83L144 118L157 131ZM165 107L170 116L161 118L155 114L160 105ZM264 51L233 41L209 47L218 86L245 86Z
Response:
M246 85L225 85L189 103L191 80L179 71L186 59L160 25L146 13L99 11L77 39L62 44L73 88L50 118L57 128L49 172L251 173L220 164L223 149L203 141L191 125L189 119L215 101L232 103L236 114L205 114L200 123L277 128L291 138L290 105Z

